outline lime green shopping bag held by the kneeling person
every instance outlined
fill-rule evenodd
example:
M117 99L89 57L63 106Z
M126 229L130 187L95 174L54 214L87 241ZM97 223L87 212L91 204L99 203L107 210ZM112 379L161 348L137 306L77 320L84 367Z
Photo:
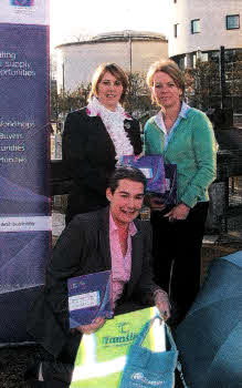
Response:
M117 388L130 345L144 324L156 315L156 307L122 314L107 320L95 334L84 335L70 388ZM160 333L160 327L149 330L145 346L165 349L165 331L164 338Z

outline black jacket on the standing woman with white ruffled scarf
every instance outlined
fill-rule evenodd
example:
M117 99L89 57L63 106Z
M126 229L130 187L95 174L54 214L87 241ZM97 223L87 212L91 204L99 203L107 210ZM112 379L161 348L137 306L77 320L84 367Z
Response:
M66 174L73 180L66 222L78 213L107 205L107 182L116 164L115 147L102 119L88 116L85 110L70 113L63 132L62 157ZM124 127L134 153L139 154L141 139L138 121L125 120Z

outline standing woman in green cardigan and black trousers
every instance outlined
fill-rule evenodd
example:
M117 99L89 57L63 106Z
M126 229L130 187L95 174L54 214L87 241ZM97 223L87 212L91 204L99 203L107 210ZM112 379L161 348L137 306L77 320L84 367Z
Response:
M208 187L217 176L217 142L206 114L185 103L182 73L173 61L151 64L147 83L160 110L145 125L145 154L161 154L165 163L177 165L177 204L166 206L158 197L150 198L155 279L171 294L176 325L200 286L200 252Z

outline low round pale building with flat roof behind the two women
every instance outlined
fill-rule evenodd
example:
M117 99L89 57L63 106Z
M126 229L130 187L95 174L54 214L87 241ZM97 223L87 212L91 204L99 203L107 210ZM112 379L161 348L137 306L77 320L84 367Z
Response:
M126 72L147 72L151 62L168 58L164 34L145 31L102 33L90 40L60 44L56 50L57 90L87 84L103 62L115 62Z

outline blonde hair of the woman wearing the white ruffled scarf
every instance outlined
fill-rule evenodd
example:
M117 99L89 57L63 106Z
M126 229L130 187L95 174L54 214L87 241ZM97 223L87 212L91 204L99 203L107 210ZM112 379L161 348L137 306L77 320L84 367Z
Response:
M102 63L98 65L98 68L95 70L93 78L92 78L92 86L91 92L88 95L88 101L92 99L93 95L97 98L98 94L98 85L106 72L109 72L112 75L114 75L118 81L120 81L123 86L123 92L120 95L120 104L124 103L126 91L128 88L128 78L125 74L125 72L116 64L116 63Z

